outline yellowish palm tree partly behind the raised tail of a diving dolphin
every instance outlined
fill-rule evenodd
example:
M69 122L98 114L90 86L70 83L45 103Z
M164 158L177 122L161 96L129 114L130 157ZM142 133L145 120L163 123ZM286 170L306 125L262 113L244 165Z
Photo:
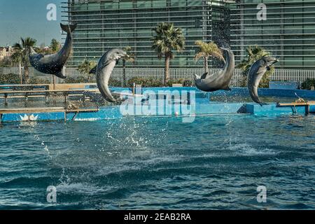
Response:
M203 41L196 41L195 44L199 47L199 51L195 55L195 60L199 60L200 58L204 58L204 72L207 73L209 71L208 60L209 57L214 57L225 61L223 57L223 52L218 45L214 42L206 43Z

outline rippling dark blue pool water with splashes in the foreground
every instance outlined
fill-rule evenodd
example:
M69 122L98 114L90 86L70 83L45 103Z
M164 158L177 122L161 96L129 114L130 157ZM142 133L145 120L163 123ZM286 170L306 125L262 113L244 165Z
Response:
M315 209L315 116L181 121L1 125L0 209Z

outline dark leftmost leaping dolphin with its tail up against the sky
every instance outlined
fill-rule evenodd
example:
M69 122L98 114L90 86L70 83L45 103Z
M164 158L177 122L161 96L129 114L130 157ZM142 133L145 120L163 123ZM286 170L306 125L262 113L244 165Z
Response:
M75 25L62 25L60 27L63 31L66 32L66 41L64 46L59 52L53 55L42 55L37 54L33 48L29 49L29 62L36 70L41 71L42 73L53 74L59 78L66 78L62 73L62 68L66 64L71 48L72 48L72 37L71 33L76 29Z

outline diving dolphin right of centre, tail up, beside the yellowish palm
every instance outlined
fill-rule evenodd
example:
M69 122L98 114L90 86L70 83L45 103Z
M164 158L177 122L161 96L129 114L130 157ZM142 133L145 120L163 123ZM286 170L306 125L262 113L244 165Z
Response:
M214 74L204 73L202 76L195 75L195 85L198 89L205 92L217 90L231 90L230 81L235 69L235 57L229 48L221 48L225 52L225 66L223 70Z

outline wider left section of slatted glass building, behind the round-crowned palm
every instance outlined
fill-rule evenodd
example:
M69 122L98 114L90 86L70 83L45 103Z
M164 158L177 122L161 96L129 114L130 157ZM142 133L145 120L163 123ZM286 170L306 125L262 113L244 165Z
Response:
M227 5L218 0L69 0L62 5L63 20L78 27L68 66L84 59L97 61L109 48L131 46L136 55L133 67L162 67L164 61L151 48L152 29L160 22L173 22L183 30L186 48L176 53L172 67L202 67L202 60L194 60L195 41L230 39Z

